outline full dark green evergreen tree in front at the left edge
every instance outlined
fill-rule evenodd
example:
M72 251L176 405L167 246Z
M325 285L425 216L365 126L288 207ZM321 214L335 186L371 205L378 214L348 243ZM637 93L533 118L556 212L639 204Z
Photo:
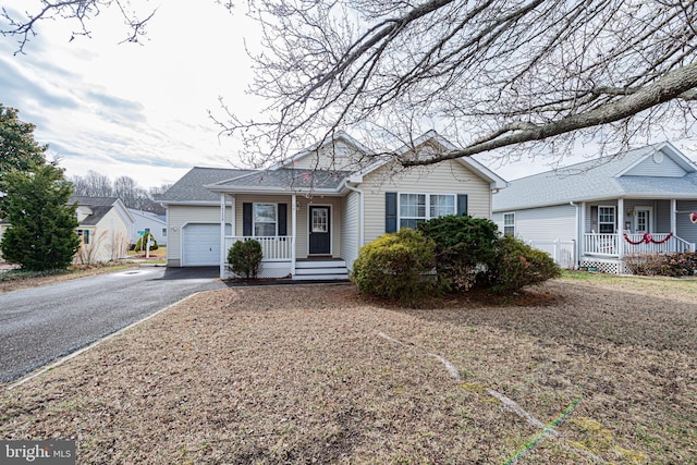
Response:
M75 205L68 205L71 184L63 171L44 164L34 172L3 175L2 213L10 223L2 235L4 259L32 271L68 268L80 248Z

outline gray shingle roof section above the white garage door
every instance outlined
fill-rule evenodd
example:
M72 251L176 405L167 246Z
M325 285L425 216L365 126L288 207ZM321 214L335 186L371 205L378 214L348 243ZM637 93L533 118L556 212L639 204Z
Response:
M232 168L194 167L159 198L161 204L178 203L212 203L218 204L220 196L210 192L205 185L254 173L254 170L236 170Z

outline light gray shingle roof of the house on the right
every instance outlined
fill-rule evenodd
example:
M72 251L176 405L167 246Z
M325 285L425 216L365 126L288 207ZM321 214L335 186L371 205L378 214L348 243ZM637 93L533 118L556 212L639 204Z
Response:
M697 173L694 172L682 178L620 176L635 163L662 147L665 147L665 144L655 144L617 156L602 157L511 181L508 188L493 195L493 211L627 195L697 196Z

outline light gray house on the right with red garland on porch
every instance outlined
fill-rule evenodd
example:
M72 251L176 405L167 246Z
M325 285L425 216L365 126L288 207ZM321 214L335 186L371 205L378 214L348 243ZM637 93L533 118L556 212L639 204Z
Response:
M636 253L695 250L697 164L670 143L515 180L493 196L505 233L568 268L626 271Z

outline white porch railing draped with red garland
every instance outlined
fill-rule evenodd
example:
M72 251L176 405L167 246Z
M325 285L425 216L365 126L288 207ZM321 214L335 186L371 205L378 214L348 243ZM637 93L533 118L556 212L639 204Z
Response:
M644 241L644 234L584 234L584 255L597 255L606 257L620 256L620 241L622 241L622 255L627 254L672 254L677 252L694 250L695 244L669 233L651 234L652 241ZM636 244L633 244L636 243Z

